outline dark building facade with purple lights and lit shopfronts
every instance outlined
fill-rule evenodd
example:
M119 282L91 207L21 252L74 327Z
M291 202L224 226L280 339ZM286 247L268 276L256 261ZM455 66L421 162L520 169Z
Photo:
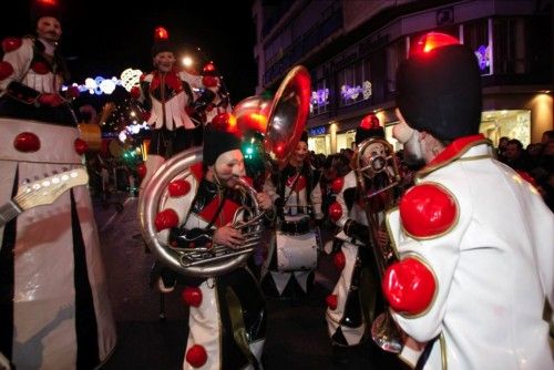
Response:
M449 33L475 51L483 81L481 132L524 145L553 130L553 0L256 0L257 93L290 68L312 78L309 147L352 147L368 113L394 114L396 70L423 33ZM394 145L397 145L394 143Z

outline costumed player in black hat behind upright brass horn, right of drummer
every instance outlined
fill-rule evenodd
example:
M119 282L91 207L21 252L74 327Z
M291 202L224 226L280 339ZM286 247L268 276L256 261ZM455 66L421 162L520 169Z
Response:
M369 138L384 138L384 131L379 119L369 114L356 130L356 144ZM382 144L371 144L369 152L382 155ZM355 156L361 155L356 150ZM361 158L362 162L367 158ZM369 179L363 179L369 182ZM369 184L366 184L369 187ZM327 297L326 320L334 349L340 360L347 356L348 348L353 348L367 339L369 326L373 320L378 294L377 266L369 249L370 227L365 210L365 199L360 194L356 171L337 178L331 185L337 193L336 202L329 207L330 219L339 227L335 236L334 261L340 269L340 277L331 295ZM373 210L377 203L370 205Z

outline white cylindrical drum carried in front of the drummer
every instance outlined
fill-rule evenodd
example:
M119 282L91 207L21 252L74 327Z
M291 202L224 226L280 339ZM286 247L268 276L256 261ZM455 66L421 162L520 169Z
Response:
M317 268L321 237L319 229L291 235L276 232L277 269L285 271L308 271Z

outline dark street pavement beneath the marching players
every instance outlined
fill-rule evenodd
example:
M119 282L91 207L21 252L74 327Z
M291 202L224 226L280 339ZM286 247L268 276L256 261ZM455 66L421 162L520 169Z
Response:
M150 287L154 257L140 236L137 199L123 196L121 203L123 210L100 202L94 207L117 326L117 346L102 370L182 369L187 309L177 292L164 295L165 319L160 318L161 295ZM308 297L267 298L264 369L407 369L372 341L340 357L332 354L325 322L325 297L337 278L330 257L322 256Z

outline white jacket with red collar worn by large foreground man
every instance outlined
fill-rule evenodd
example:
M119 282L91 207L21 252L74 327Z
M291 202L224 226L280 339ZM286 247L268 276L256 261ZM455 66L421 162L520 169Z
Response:
M419 261L434 286L413 297L421 306L393 314L420 342L440 336L424 369L443 358L454 370L554 369L542 319L553 301L554 216L482 136L454 142L419 173L388 227L399 264Z

